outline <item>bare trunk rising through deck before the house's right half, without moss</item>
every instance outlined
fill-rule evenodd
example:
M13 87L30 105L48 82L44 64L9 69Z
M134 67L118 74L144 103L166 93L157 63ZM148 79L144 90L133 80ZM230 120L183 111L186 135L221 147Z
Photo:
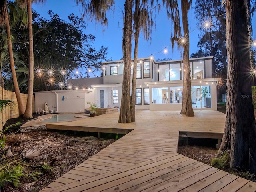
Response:
M185 42L183 44L183 95L182 108L180 114L186 114L188 117L194 117L191 100L191 69L189 65L189 30L188 30L188 0L181 0L182 25Z

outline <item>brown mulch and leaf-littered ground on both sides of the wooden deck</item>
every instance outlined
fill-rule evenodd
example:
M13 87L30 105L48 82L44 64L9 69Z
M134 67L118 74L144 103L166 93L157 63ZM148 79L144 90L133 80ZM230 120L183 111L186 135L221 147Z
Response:
M224 111L223 105L222 108ZM15 122L24 123L26 120L22 118L11 119L6 122L6 125L8 126ZM21 134L19 133L19 126L13 127L7 132L6 144L11 146L16 159L20 158L20 151L26 147L46 145L47 148L40 158L25 158L20 161L23 168L23 175L18 178L20 186L14 187L10 182L6 182L6 186L2 189L5 192L37 192L114 141L114 139L98 139L94 136L84 135L81 132L38 131ZM187 145L180 146L178 152L211 165L211 160L218 151L215 148ZM13 159L8 162L12 162ZM1 159L0 168L4 165L6 165L6 162ZM15 163L6 167L6 169L10 170L14 165ZM254 182L256 181L255 176L248 172L241 172L231 168L225 168L224 170Z

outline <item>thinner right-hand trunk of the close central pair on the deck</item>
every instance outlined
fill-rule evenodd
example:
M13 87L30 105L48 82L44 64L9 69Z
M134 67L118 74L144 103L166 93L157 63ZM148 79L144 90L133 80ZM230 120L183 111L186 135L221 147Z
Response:
M139 19L139 4L140 0L135 1L134 24L135 24L135 44L134 44L134 64L132 73L132 96L131 96L131 121L135 122L135 105L136 105L136 78L137 78L137 63L138 63L138 46L140 34L140 19Z

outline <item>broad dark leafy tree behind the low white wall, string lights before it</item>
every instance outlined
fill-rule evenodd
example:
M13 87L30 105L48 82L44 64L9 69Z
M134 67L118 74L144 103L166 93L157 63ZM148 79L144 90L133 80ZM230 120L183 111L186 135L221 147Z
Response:
M101 61L108 60L108 48L96 50L92 46L95 37L84 34L82 18L70 14L70 21L65 22L57 14L48 13L49 20L36 16L33 21L35 91L63 88L67 77L95 75L102 70ZM85 74L76 74L79 69L86 69Z

